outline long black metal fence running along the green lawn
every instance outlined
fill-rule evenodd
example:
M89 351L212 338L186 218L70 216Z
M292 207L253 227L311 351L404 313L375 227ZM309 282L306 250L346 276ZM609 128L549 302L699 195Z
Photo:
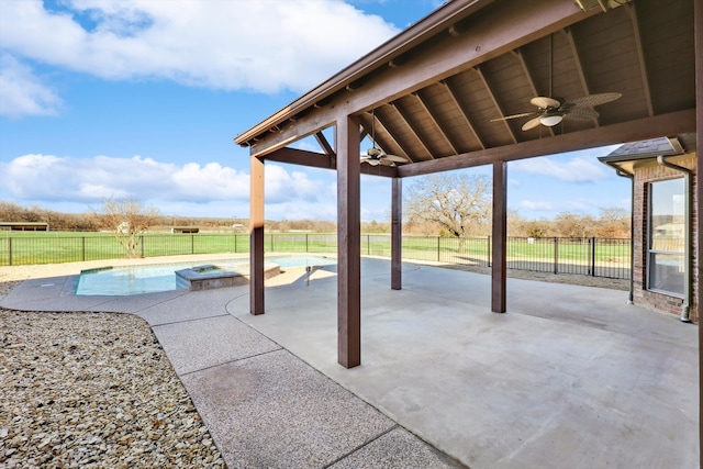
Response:
M336 234L267 234L267 252L334 253ZM389 235L361 236L361 254L390 257ZM141 237L142 257L192 254L231 254L249 250L249 235L242 234L146 234ZM447 238L404 236L403 258L477 267L490 267L490 237ZM551 273L577 273L615 279L631 277L631 241L622 238L529 238L509 237L507 267ZM124 252L113 236L79 233L13 234L0 236L0 266L59 264L114 259Z

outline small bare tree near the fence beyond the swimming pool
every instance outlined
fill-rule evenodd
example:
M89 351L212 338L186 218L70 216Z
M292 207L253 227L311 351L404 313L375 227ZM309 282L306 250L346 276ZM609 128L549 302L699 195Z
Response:
M135 199L105 199L102 210L91 209L90 214L101 228L114 233L127 257L140 257L141 235L160 216L155 208L145 208Z

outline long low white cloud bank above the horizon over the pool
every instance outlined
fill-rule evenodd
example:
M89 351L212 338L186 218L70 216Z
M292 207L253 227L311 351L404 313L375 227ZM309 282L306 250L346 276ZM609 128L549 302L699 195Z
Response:
M249 175L219 163L178 166L141 156L80 159L23 155L0 163L0 172L7 181L4 192L18 200L96 203L114 197L208 203L249 198ZM266 202L276 204L327 202L334 189L305 172L267 165L265 190Z

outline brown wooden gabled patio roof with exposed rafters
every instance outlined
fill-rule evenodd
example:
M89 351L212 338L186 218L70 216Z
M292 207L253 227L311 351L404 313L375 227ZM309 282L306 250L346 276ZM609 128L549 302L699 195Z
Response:
M361 170L404 177L695 132L694 2L581 3L592 7L450 1L235 142L265 159L335 168L322 131L345 108L371 134L373 112L377 144L409 163ZM531 99L550 88L567 100L622 98L595 107L598 119L554 127L492 122L534 111ZM286 147L310 135L323 154Z

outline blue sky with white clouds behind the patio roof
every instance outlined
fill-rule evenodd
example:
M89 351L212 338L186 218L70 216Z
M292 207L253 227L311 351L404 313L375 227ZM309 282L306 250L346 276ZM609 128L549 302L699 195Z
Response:
M0 200L82 213L129 198L246 219L248 149L234 137L440 4L0 0ZM596 160L614 148L510 163L509 210L629 210L629 181ZM265 190L267 220L336 220L334 171L269 163ZM390 192L362 176L362 221L389 220Z

